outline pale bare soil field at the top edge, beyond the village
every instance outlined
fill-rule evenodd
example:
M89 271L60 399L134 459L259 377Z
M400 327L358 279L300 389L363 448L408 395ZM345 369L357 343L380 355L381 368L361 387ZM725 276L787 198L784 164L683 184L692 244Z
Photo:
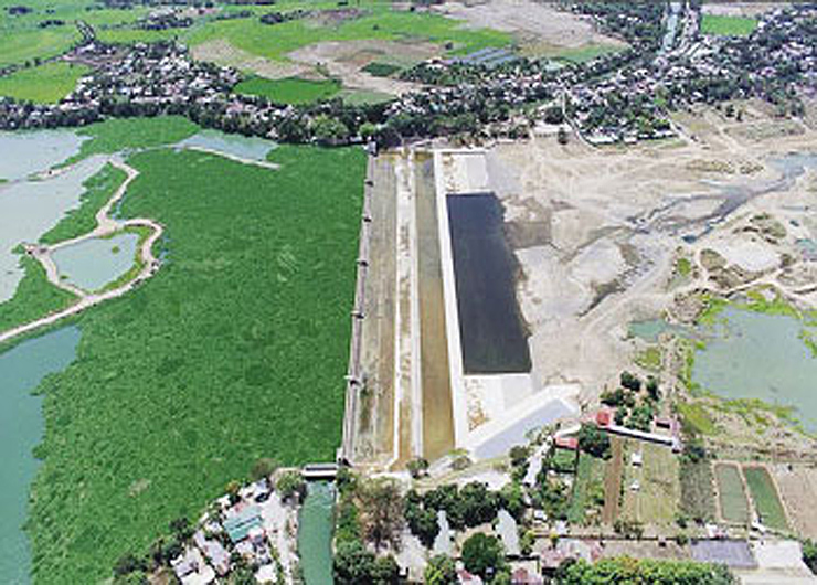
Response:
M575 49L590 44L624 46L618 39L595 31L593 23L544 2L490 0L446 2L436 12L464 20L475 29L490 28L512 33L522 45Z

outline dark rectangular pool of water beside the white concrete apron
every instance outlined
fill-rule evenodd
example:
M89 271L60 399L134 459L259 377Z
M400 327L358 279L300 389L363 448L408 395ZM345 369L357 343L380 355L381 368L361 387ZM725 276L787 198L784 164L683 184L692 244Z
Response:
M492 193L447 204L465 373L530 372L502 208Z

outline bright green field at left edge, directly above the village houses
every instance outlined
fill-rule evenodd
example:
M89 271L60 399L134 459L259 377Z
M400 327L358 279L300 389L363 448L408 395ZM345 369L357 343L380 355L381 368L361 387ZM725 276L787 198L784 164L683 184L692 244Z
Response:
M45 63L0 77L0 95L38 104L56 104L68 95L88 72L85 65L65 62Z

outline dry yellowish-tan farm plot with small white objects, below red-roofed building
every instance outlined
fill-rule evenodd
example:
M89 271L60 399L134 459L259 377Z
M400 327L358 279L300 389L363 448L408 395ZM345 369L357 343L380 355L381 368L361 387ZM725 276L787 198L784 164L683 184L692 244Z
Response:
M667 447L628 442L628 453L641 454L641 465L625 460L622 515L650 524L671 524L680 499L678 458ZM637 489L634 489L637 488Z

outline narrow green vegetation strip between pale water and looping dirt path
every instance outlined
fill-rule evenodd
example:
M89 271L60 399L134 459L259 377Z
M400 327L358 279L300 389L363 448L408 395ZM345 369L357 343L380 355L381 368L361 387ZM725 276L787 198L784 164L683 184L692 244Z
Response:
M79 206L68 211L59 224L43 234L40 243L53 245L94 231L96 214L110 201L125 179L127 179L125 171L113 164L106 164L98 173L83 183L85 192L79 198Z

